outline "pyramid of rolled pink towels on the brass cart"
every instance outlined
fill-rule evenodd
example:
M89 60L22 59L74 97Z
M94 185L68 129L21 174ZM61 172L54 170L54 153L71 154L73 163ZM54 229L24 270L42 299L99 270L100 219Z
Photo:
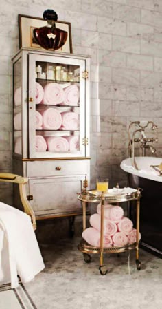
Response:
M91 215L89 220L91 227L82 232L82 237L91 246L100 246L101 228L101 204L97 205L97 213ZM137 230L133 228L132 221L124 217L124 211L120 206L104 205L104 247L121 247L134 244L137 238ZM139 239L141 234L139 233Z

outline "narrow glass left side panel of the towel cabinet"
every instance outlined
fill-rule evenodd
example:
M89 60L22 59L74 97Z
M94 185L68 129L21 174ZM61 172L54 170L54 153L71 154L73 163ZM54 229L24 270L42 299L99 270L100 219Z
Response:
M14 63L14 153L22 155L22 58Z

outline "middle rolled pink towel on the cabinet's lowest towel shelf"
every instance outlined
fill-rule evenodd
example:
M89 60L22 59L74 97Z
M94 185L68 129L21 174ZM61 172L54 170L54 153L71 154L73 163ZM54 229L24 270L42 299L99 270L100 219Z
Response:
M69 143L62 136L49 136L46 138L48 151L67 152Z

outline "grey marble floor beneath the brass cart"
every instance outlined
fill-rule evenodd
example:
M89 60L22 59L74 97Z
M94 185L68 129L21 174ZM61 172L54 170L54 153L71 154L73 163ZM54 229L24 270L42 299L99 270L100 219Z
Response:
M72 238L57 235L51 243L39 240L45 270L25 284L37 309L162 308L162 259L141 249L138 271L135 251L130 252L129 263L128 253L106 254L108 274L102 276L99 255L92 255L93 262L86 264L78 251L80 235L78 228Z

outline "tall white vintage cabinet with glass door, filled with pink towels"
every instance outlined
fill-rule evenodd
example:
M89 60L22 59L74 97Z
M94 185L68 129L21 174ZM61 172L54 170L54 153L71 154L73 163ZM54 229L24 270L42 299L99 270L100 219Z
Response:
M89 181L89 56L22 49L12 61L13 172L29 180L36 220L77 215Z

